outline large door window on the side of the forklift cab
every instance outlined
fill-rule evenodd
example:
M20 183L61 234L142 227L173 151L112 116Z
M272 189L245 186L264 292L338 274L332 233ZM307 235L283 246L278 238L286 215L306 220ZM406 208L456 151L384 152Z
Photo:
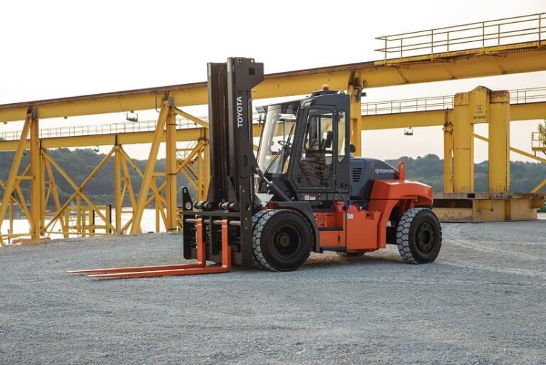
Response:
M333 113L311 109L299 165L311 186L326 186L333 164Z

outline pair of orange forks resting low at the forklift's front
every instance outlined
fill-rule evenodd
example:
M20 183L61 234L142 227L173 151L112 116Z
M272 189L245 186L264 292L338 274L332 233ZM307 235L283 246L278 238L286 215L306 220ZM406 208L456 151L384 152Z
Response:
M203 240L203 218L197 218L196 248L197 263L181 265L138 266L134 268L108 268L73 270L68 273L86 274L99 279L127 279L131 277L158 277L198 274L227 273L231 270L231 248L228 242L228 219L222 220L222 265L206 266L205 241ZM211 221L212 223L212 221Z

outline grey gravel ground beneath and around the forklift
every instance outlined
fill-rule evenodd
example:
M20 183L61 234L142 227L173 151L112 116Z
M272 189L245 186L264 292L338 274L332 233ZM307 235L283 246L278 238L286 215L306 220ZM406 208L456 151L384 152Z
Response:
M546 221L443 226L431 265L293 273L64 273L178 262L178 234L0 249L0 364L546 364Z

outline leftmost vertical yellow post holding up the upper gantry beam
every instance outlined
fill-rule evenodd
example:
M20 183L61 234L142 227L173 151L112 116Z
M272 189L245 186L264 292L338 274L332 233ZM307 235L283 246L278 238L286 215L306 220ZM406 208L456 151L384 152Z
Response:
M31 239L39 240L41 231L41 158L40 158L40 122L31 119Z

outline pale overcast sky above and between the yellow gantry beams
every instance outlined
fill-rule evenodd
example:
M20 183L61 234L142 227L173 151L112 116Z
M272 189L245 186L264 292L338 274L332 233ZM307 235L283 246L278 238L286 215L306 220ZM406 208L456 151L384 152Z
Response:
M263 62L266 73L376 60L376 36L545 11L545 0L2 1L0 104L203 81L206 63L234 55ZM545 87L546 72L369 89L364 101L454 95L478 85ZM43 120L41 127L114 122L124 115ZM513 122L512 146L530 151L538 122ZM20 126L0 125L0 132ZM486 128L476 132L486 135ZM442 146L441 127L416 128L412 137L400 129L363 132L367 157L441 157ZM147 157L142 146L127 151ZM475 159L487 159L485 143L476 141Z

